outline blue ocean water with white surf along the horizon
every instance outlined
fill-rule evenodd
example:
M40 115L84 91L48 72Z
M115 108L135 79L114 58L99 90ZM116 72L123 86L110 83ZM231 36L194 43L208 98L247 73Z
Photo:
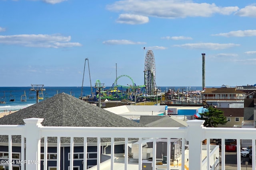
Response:
M35 87L35 86L34 86ZM41 86L38 86L40 89ZM23 109L25 107L31 106L33 104L36 104L36 91L30 91L30 87L0 87L0 102L6 102L5 104L0 104L0 113L7 111L15 111L19 109ZM106 87L105 89L108 89L111 87ZM174 88L174 90L178 90L180 88L183 88L184 91L194 91L194 90L202 90L201 86L185 86L185 87L172 87L172 86L162 86L158 87L158 89L161 90L161 92L166 92L166 90ZM76 98L79 98L81 95L81 87L45 87L44 92L39 92L39 96L43 97L42 100L39 100L39 102L46 100L47 98L50 98L54 96L55 94L59 93L66 93L70 94ZM95 89L92 88L92 91L95 93ZM41 94L42 93L42 94ZM26 94L26 102L21 102L21 96ZM91 94L91 88L90 87L83 87L82 89L82 95L87 96ZM42 96L43 95L43 96ZM15 99L14 102L10 102L11 99Z

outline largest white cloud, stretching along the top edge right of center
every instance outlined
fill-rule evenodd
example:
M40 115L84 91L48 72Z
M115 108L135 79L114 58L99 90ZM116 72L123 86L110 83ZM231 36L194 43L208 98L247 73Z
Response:
M230 15L237 6L219 7L215 4L194 3L189 0L119 0L106 8L114 12L126 12L160 18L209 17L214 14Z

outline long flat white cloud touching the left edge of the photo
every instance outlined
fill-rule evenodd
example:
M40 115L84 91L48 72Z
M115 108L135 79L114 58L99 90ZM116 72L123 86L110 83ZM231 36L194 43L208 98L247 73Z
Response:
M43 34L22 34L22 35L0 35L0 43L9 45L21 45L25 47L77 47L82 46L80 43L70 43L71 37L60 35L43 35Z

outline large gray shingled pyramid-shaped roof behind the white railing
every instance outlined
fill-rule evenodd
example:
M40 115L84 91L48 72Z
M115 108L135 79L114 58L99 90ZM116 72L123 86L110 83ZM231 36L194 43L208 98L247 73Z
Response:
M0 118L0 125L23 125L23 119L44 118L43 126L144 127L135 121L84 102L65 93ZM64 139L64 138L63 138ZM2 141L0 139L0 141ZM54 140L55 141L55 140ZM53 142L54 142L53 141ZM102 140L107 142L109 139ZM120 140L119 140L120 141ZM62 142L68 142L64 140ZM77 141L82 142L82 141ZM95 142L94 139L88 142Z

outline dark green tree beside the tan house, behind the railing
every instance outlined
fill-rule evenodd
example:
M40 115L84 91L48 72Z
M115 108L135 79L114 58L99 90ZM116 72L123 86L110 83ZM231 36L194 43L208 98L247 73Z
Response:
M212 106L210 106L208 110L209 112L199 113L200 117L198 119L205 120L204 126L216 127L216 125L224 125L228 122L223 114L224 111Z

